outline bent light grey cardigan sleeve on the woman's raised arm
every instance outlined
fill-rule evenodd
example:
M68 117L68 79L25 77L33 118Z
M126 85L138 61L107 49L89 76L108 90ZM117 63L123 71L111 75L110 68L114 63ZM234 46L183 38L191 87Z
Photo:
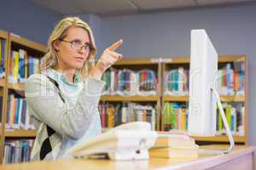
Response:
M105 82L88 78L78 100L70 107L61 101L58 89L48 78L34 74L26 82L26 105L29 113L39 122L52 127L56 133L70 139L81 138L94 120Z

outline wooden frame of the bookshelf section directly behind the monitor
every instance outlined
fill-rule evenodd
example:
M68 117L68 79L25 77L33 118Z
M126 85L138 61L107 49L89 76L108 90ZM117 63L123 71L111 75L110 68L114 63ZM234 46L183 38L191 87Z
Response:
M244 131L244 133L241 135L241 133L239 135L237 135L236 133L233 133L234 135L234 139L236 144L247 144L247 74L248 74L248 64L247 64L247 57L246 55L221 55L218 57L218 70L220 69L224 69L225 66L227 64L232 65L232 68L234 68L235 65L244 65L245 69L244 69L244 93L243 94L220 94L220 99L222 102L224 103L228 103L231 105L237 105L237 104L241 104L244 107L244 114L242 115L242 119L243 119L243 127L242 127L242 131ZM173 70L178 70L178 68L183 67L185 70L189 70L189 58L188 57L177 57L177 58L172 58L172 60L166 60L163 62L163 72L164 74L167 72L169 73L168 76L171 75L172 77L172 73L171 71ZM178 72L178 71L177 71ZM228 75L228 74L227 74ZM179 92L174 91L172 92L172 94L166 94L166 87L165 87L165 80L166 79L166 75L164 75L162 84L164 85L162 87L162 101L161 103L163 105L162 106L162 112L161 112L161 130L165 129L165 116L164 116L164 112L165 112L165 104L166 103L175 103L177 105L183 105L188 108L188 102L189 102L189 95L188 94L179 94ZM183 80L182 80L183 81ZM188 87L187 87L188 88ZM176 106L176 105L175 105ZM215 137L194 137L196 139L196 141L198 142L210 142L210 143L214 143L214 142L218 142L218 143L227 143L229 142L228 138L226 135L224 134L219 134Z

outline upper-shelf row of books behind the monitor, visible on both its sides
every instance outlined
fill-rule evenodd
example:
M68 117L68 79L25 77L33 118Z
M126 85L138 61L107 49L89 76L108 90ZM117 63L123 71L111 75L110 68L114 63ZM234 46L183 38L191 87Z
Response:
M220 95L244 95L245 66L244 62L226 64L218 70L215 86ZM236 66L235 66L236 65ZM189 94L189 71L183 67L165 72L164 87L166 95Z

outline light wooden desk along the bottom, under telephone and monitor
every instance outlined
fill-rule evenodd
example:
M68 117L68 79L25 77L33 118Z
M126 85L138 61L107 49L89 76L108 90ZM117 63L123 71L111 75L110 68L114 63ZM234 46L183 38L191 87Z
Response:
M213 146L224 148L226 146ZM212 148L212 146L211 146ZM149 161L110 161L110 160L58 160L33 161L29 163L9 164L0 169L24 170L70 170L70 169L211 169L211 170L250 170L253 169L253 157L256 147L236 146L228 155L209 156L199 155L198 159L177 160L165 158L150 158Z

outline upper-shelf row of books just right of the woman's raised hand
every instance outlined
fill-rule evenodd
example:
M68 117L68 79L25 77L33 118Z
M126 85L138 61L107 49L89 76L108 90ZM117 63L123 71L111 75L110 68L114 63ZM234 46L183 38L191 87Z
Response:
M102 94L108 95L155 95L157 79L152 70L131 71L111 68L102 76L106 82Z

